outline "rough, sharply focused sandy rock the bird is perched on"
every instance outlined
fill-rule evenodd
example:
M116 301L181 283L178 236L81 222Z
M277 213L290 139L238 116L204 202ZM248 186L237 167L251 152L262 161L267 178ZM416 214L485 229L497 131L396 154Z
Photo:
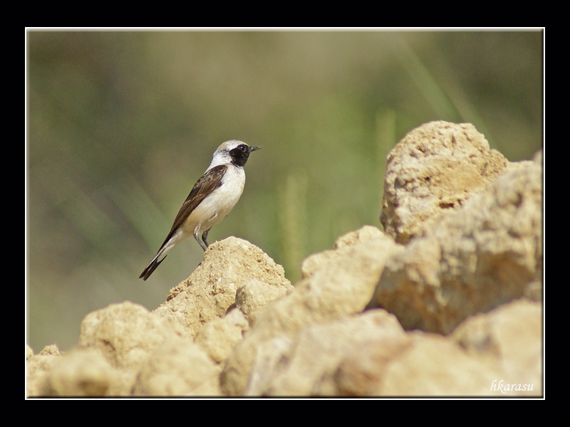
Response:
M202 323L224 317L235 304L237 289L254 279L276 288L291 287L283 267L269 255L252 243L229 237L212 243L202 263L154 312L182 325L193 337Z

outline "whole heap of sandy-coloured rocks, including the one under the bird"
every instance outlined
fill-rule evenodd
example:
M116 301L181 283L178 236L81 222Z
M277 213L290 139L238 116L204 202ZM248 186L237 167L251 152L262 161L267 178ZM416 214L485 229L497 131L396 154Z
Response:
M26 348L29 396L541 396L542 164L431 122L390 154L380 219L291 286L213 243L150 312L90 313L78 347Z

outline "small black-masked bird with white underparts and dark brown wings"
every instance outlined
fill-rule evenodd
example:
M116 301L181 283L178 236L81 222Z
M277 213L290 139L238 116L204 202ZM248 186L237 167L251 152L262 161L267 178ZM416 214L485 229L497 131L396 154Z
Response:
M189 236L194 236L204 252L206 251L209 246L207 237L210 228L222 221L236 206L244 191L244 164L249 154L260 148L249 147L242 141L232 139L216 149L212 163L194 184L178 211L165 242L147 268L140 273L140 279L147 280L166 255ZM200 233L202 241L199 239Z

